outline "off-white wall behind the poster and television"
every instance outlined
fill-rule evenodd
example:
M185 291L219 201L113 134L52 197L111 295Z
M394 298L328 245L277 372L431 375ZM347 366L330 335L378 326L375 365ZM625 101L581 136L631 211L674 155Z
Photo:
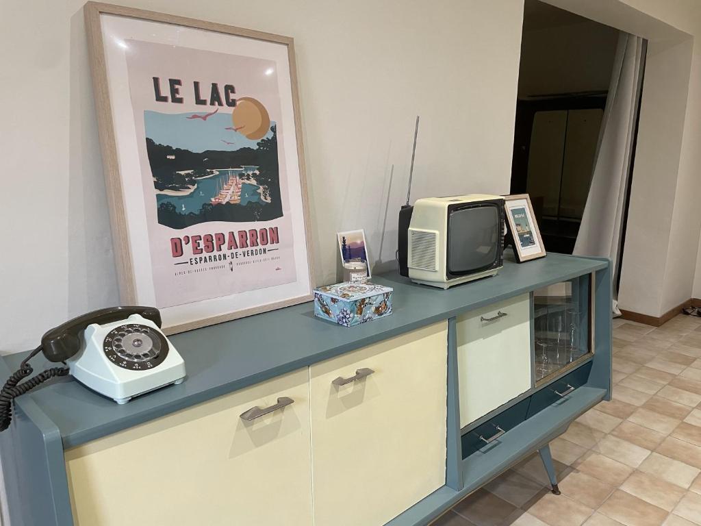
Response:
M334 232L365 228L394 257L416 114L412 198L509 189L522 0L131 0L293 36L319 283ZM82 0L4 2L0 16L0 351L118 304ZM205 7L206 6L206 7Z

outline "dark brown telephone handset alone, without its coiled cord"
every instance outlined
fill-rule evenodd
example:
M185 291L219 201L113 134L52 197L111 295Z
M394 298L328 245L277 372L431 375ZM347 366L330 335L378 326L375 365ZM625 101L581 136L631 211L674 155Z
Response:
M139 314L161 327L161 313L155 307L114 306L83 314L49 330L41 337L41 350L47 360L64 362L79 351L81 333L86 330L88 325L92 323L103 325L104 323L125 320L132 314Z

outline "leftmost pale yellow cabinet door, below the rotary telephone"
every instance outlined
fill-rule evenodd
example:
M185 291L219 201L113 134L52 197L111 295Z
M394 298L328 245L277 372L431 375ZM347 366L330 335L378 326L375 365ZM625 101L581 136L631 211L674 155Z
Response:
M308 374L304 368L67 451L75 524L311 526ZM240 418L282 397L294 402Z

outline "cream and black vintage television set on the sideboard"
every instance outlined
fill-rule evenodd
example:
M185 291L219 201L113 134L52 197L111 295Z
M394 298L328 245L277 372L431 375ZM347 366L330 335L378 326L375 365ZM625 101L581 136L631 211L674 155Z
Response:
M400 274L444 289L494 276L503 266L504 220L501 196L429 197L402 206Z

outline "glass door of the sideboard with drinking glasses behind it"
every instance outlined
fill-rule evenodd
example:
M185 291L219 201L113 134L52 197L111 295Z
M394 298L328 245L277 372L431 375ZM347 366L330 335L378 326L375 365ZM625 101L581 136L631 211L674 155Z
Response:
M533 292L536 382L569 370L592 353L591 276Z

